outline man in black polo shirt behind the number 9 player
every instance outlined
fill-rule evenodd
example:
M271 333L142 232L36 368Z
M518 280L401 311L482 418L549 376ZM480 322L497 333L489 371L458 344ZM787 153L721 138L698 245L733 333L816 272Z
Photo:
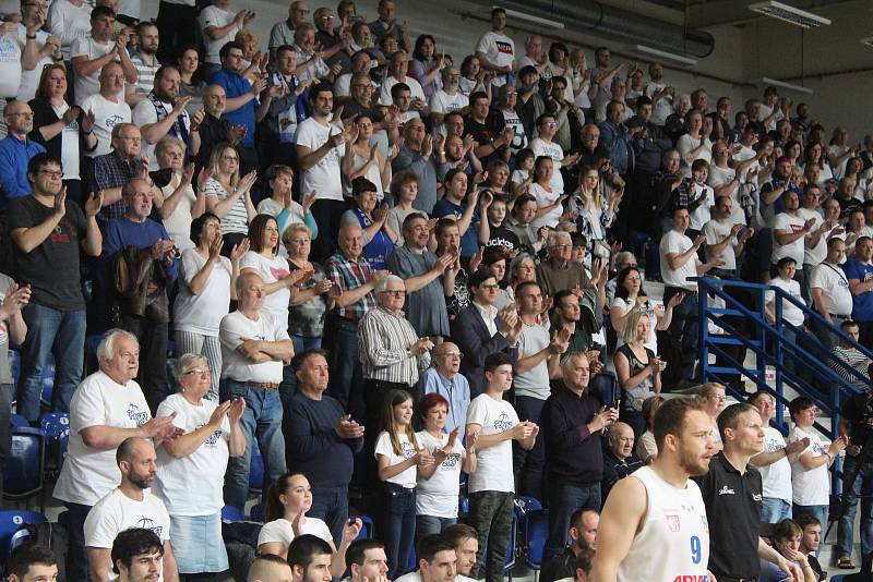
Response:
M655 415L656 439L661 411L670 402ZM756 580L761 575L761 560L775 563L789 579L793 573L796 580L803 580L798 566L784 558L757 533L763 485L761 473L749 460L764 450L763 424L752 404L726 408L718 415L718 432L725 448L713 457L708 472L697 473L694 480L706 504L713 541L709 571L717 580ZM658 445L660 449L660 440ZM658 461L661 454L659 450Z

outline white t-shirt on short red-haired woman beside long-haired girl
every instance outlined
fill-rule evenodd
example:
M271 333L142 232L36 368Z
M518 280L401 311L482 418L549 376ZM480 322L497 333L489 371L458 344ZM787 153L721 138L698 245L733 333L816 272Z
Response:
M427 431L416 433L418 442L433 452L449 444L449 435L442 433L439 438ZM455 447L445 460L436 468L430 478L418 475L416 489L416 513L419 516L434 516L438 518L456 518L457 501L461 490L461 465L464 460L464 447L461 438L455 440Z

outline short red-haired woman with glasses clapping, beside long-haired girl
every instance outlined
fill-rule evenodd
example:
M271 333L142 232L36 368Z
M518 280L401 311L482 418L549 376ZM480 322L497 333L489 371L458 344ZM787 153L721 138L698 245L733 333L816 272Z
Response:
M434 459L432 464L418 470L416 539L423 539L457 522L461 471L467 474L476 471L476 439L468 439L465 449L457 438L458 428L445 434L449 401L435 392L421 398L418 413L424 429L416 436Z

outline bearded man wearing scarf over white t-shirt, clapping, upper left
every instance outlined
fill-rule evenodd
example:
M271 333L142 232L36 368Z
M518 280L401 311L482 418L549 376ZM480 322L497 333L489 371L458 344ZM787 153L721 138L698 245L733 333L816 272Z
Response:
M205 113L201 110L192 120L186 106L192 97L179 97L182 82L179 70L172 64L165 64L157 70L154 88L145 99L133 109L133 123L140 126L143 142L142 155L151 160L150 170L157 170L155 144L165 135L181 140L189 156L200 153L200 123Z

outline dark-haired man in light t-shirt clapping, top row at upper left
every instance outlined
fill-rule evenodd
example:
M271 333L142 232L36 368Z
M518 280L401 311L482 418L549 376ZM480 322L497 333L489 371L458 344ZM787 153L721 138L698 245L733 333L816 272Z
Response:
M110 62L121 65L125 82L136 82L136 68L128 54L128 35L121 33L113 38L115 25L112 9L97 7L91 12L91 34L79 36L70 44L70 63L75 72L73 93L79 105L97 93L98 73Z

